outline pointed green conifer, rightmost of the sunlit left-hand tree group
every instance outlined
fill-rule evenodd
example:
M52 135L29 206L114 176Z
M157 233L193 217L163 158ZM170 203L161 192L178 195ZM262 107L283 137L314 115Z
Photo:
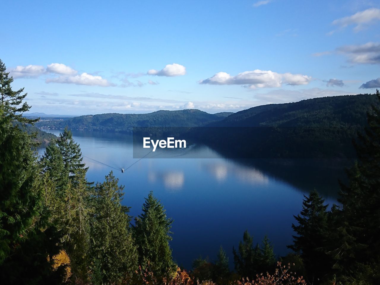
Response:
M176 270L171 256L171 223L160 201L150 192L142 206L142 214L135 218L135 237L139 265L157 277L169 277Z

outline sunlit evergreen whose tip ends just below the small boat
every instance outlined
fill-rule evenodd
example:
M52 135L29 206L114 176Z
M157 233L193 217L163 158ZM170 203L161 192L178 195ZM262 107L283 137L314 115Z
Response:
M116 284L137 269L137 251L129 228L130 217L120 204L123 186L112 171L95 187L94 218L91 227L91 254L102 284Z

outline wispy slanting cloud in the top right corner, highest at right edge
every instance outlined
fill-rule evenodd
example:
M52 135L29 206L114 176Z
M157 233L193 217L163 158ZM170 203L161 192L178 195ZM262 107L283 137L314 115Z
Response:
M367 25L373 24L375 21L380 20L380 9L370 8L351 16L336 19L332 22L333 25L337 25L340 28L345 28L348 25L355 25L354 32L359 32ZM329 34L334 33L330 32Z

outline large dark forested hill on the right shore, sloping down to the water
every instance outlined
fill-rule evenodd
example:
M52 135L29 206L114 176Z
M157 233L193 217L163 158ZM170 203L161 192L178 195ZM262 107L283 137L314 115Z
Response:
M258 106L193 135L235 158L353 158L352 140L363 133L371 105L379 106L374 94Z

